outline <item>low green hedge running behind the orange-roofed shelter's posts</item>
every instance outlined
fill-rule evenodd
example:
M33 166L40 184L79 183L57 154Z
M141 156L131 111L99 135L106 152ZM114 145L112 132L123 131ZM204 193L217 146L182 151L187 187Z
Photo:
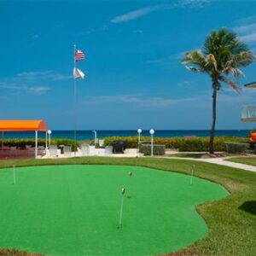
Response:
M1 140L0 140L0 142L1 142ZM73 140L62 139L62 138L51 139L50 144L57 145L57 146L59 146L59 145L72 146L73 150L79 146L79 143L75 143L75 141L73 141ZM34 147L35 139L31 139L31 138L4 139L3 145L9 146L9 147L17 147L17 148L26 148L26 145L31 145L32 147ZM39 138L38 146L45 146L45 140L42 138Z

